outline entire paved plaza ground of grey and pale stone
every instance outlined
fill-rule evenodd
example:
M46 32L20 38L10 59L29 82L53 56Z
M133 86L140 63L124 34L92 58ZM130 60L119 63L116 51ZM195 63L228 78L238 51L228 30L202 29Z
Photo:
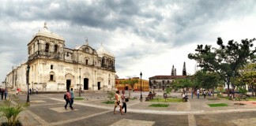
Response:
M148 92L143 92L143 97ZM14 94L14 92L13 92ZM127 93L128 94L128 93ZM163 94L157 92L157 95ZM180 93L172 96L181 97ZM27 95L18 95L24 102ZM77 94L75 94L77 96ZM140 96L140 92L132 92ZM31 106L21 113L24 125L72 125L72 126L164 126L164 125L255 125L256 101L237 102L226 99L209 100L207 98L190 98L189 102L164 102L167 108L149 107L157 102L140 102L139 99L127 102L127 113L114 114L114 105L104 104L107 92L85 92L85 100L75 100L74 110L64 109L66 104L63 94L30 95ZM2 101L1 101L2 102ZM209 103L226 103L225 107L209 107ZM244 103L244 106L235 105ZM118 110L118 109L117 109ZM0 122L5 121L1 119Z

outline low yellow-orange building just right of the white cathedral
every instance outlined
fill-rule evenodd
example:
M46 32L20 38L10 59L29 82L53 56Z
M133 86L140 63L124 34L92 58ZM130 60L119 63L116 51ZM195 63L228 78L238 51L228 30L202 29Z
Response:
M134 83L134 87L130 85L131 82L137 81ZM149 81L148 80L141 80L139 77L133 77L130 79L115 79L115 87L119 90L133 90L133 91L149 91Z

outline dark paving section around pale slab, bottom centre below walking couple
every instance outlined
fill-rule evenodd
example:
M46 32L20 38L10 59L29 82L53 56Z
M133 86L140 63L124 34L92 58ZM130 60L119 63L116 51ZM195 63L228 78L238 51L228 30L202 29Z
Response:
M115 124L119 120L130 120L134 126L137 125L135 122L137 120L144 120L145 122L147 121L152 121L155 122L153 126L171 126L171 125L179 125L179 126L187 126L188 124L188 119L187 116L175 116L175 115L158 115L158 114L145 114L145 113L126 113L125 115L119 114L113 114L112 112L110 113L104 113L102 115L96 116L96 117L90 117L85 120L77 120L74 122L67 123L66 125L76 125L76 126L83 126L83 125L88 125L88 126L107 126L107 125L112 125ZM134 120L131 121L131 120ZM59 124L61 126L62 124ZM126 124L123 124L126 125ZM128 124L130 125L130 124Z

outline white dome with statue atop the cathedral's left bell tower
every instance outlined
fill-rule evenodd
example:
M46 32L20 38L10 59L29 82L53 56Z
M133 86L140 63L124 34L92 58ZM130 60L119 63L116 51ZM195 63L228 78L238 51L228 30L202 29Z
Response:
M40 30L40 31L38 31L38 33L36 33L36 36L39 36L39 35L46 36L46 37L53 38L53 39L60 39L60 40L64 41L64 38L61 35L58 35L52 31L48 30L48 28L46 26L46 22L44 23L43 30Z

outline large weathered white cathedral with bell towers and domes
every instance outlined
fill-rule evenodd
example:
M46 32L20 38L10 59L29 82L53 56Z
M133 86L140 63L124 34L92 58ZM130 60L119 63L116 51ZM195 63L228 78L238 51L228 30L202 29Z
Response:
M87 40L75 49L66 48L63 37L45 23L28 43L28 61L9 72L6 83L21 91L28 86L39 91L109 91L115 86L115 57L102 45L99 50L88 46Z

